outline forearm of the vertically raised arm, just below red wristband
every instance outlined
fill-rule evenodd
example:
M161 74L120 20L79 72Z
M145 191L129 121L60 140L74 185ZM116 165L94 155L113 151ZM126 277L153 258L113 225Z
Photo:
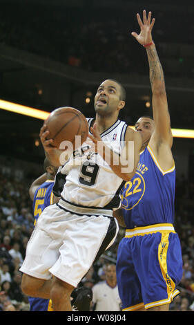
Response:
M162 69L162 65L159 61L159 57L157 55L157 50L155 48L155 44L148 46L146 48L146 53L148 56L148 63L150 68L150 80L152 91L154 92L165 92L165 82L164 82L164 73Z

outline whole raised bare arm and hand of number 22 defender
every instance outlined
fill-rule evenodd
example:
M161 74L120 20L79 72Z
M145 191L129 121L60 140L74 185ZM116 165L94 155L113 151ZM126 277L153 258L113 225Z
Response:
M155 131L152 138L155 138L157 142L164 142L171 148L173 136L168 112L164 73L152 37L155 19L151 19L151 12L146 17L146 10L144 10L143 21L139 14L137 14L137 21L140 27L139 35L136 32L132 32L132 35L137 39L139 44L144 46L150 68L150 80L153 93L153 118L155 121Z

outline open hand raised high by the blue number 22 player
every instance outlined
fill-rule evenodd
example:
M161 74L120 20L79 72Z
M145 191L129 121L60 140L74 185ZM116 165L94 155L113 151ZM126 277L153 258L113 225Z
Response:
M145 45L145 44L150 44L153 39L152 39L152 34L151 31L153 29L154 23L155 23L155 18L152 19L151 21L151 11L148 13L148 18L146 17L146 10L143 11L143 22L139 14L137 14L137 21L140 27L140 32L139 35L137 32L132 32L131 35L137 39L139 44Z

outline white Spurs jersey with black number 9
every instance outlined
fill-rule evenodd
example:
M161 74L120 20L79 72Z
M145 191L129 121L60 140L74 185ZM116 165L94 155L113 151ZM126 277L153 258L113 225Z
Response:
M87 120L90 133L90 125L94 119ZM117 120L101 133L101 140L107 147L120 154L124 147L126 128L125 122ZM53 192L61 196L60 207L73 205L79 207L78 212L82 207L83 212L88 208L91 213L98 214L104 213L102 210L112 211L114 207L119 207L119 192L123 185L124 180L95 152L93 142L87 138L65 165L59 167Z

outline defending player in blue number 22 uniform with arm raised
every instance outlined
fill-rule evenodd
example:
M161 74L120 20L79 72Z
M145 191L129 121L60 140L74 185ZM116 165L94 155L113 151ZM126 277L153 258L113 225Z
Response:
M175 163L164 74L152 39L151 12L132 35L145 47L153 93L153 119L135 124L143 144L133 178L121 191L122 209L113 212L126 228L117 252L117 283L124 311L168 311L182 279L180 239L173 227Z

